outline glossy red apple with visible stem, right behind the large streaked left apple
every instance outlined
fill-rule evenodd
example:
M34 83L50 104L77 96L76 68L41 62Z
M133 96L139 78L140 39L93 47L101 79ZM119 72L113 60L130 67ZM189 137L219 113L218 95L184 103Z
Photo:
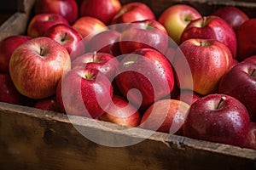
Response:
M78 31L73 29L72 26L66 24L57 24L49 27L45 32L44 37L49 37L56 42L59 42L61 46L67 49L69 54L75 54L76 51L81 50L79 42L82 40L82 36ZM79 49L77 49L79 47ZM83 50L84 51L84 50ZM70 55L73 60L75 55Z

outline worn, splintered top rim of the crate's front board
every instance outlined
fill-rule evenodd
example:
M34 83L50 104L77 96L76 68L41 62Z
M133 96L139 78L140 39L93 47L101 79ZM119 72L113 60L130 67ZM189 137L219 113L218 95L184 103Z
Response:
M46 121L54 121L71 123L67 115L63 113L58 113L55 111L43 111L31 107L11 105L7 103L0 102L0 114L3 112L12 112L15 114L26 115L28 117L37 117L38 119ZM160 142L165 144L166 147L176 147L177 150L184 150L186 148L192 148L194 150L205 150L212 152L214 154L226 155L226 156L236 156L247 160L256 161L256 150L249 150L246 148L240 148L232 146L229 144L218 144L212 143L204 140L189 139L183 136L177 136L167 133L158 133L136 127L134 131L125 131L127 127L120 126L111 122L102 122L93 120L90 118L82 118L79 116L73 116L73 126L79 126L82 128L93 128L96 130L101 130L104 132L111 131L117 135L125 135L135 139L146 139ZM99 125L102 125L99 127Z

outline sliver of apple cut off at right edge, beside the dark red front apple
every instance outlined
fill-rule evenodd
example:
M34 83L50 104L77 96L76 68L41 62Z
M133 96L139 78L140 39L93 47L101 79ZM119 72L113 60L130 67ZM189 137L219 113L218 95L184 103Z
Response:
M250 122L245 148L256 150L256 122Z

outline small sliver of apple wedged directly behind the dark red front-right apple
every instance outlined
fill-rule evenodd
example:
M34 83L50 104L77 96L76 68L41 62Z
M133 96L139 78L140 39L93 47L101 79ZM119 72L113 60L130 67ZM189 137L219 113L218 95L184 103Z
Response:
M181 100L189 105L192 105L197 99L200 99L201 97L202 96L200 94L197 94L192 90L183 89L177 96L177 100Z

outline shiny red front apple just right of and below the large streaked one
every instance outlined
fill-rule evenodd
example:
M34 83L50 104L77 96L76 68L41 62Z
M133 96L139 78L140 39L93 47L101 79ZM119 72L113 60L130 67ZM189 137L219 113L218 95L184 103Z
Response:
M113 87L100 71L78 68L62 78L61 96L68 115L98 118L112 101Z

